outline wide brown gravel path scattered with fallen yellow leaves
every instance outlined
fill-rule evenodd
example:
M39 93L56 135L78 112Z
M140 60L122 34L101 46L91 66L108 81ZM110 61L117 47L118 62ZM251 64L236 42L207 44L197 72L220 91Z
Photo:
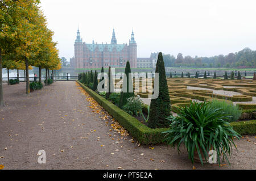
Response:
M187 151L166 145L138 146L131 136L110 132L111 119L95 111L74 81L55 82L24 94L25 84L3 86L0 165L4 169L192 169ZM108 114L106 114L107 116ZM247 141L247 140L250 140ZM231 166L196 169L256 169L254 136L236 140ZM39 164L39 150L46 164Z

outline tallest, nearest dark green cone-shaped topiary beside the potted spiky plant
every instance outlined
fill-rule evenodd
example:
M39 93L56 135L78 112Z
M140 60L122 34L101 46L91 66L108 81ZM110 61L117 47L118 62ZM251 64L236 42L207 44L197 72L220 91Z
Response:
M169 127L170 121L168 121L166 117L170 116L171 102L166 81L166 71L164 68L162 52L158 54L155 73L159 73L159 96L156 99L151 99L148 127ZM154 89L156 89L156 87L154 87Z

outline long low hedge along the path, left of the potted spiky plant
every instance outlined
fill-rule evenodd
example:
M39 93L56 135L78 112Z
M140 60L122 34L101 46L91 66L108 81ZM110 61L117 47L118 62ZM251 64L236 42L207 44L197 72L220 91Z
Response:
M119 107L115 106L101 95L98 95L93 90L82 85L82 83L79 81L77 81L77 83L79 83L90 96L92 96L102 107L104 107L105 110L108 111L110 115L112 115L114 119L117 120L118 123L120 123L131 134L131 136L135 137L138 142L145 145L163 143L165 134L162 134L162 132L167 131L167 128L148 128L138 119L121 110Z

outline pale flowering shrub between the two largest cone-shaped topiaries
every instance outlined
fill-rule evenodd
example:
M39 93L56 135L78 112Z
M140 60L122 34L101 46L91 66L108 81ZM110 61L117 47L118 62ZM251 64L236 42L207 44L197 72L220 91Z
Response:
M142 111L142 100L140 96L133 96L127 99L127 103L122 107L124 111L130 115L138 116L138 113Z

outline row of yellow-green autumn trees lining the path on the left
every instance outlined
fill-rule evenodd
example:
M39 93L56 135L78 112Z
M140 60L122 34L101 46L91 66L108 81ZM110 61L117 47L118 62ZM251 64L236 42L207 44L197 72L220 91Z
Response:
M30 66L49 70L61 68L59 52L39 9L39 0L0 1L0 106L3 106L2 68L26 70L26 93L30 93ZM52 73L53 74L53 73ZM47 83L47 81L46 81Z

